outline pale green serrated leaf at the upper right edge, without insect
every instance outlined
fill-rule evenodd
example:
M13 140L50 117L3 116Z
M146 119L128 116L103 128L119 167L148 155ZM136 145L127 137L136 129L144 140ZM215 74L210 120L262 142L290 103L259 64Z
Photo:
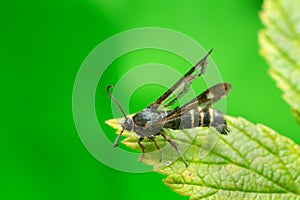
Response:
M265 0L261 19L265 25L259 34L261 55L285 101L300 113L300 1Z

